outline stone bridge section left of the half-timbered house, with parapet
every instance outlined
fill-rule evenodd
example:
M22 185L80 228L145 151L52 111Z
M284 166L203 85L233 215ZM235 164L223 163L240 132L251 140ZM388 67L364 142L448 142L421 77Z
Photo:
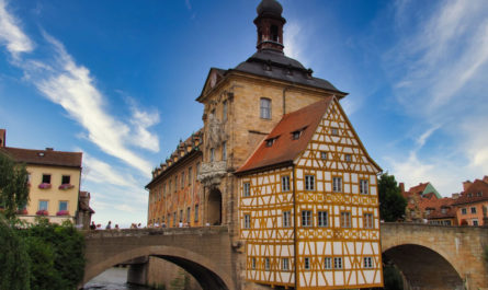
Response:
M117 264L137 264L156 256L185 269L203 289L235 290L231 254L226 227L89 231L83 285ZM139 275L144 276L144 268Z

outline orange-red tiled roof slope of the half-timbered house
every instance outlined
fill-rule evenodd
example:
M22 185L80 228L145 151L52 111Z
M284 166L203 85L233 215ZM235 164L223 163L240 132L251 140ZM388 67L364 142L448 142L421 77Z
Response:
M236 171L236 174L277 164L292 164L293 160L306 149L332 100L332 96L328 96L284 115L254 153ZM298 130L302 130L300 137L294 140L292 134ZM268 141L272 142L270 147L266 146Z

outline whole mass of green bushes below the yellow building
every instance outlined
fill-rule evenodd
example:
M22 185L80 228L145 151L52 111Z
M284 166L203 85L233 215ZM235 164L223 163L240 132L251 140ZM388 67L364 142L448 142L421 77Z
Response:
M83 278L84 239L70 222L59 225L39 218L34 224L3 223L0 290L77 289Z

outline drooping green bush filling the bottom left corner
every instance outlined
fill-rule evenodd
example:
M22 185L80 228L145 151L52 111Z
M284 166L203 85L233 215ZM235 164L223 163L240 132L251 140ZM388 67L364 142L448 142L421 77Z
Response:
M15 229L0 214L0 290L30 290L30 258Z

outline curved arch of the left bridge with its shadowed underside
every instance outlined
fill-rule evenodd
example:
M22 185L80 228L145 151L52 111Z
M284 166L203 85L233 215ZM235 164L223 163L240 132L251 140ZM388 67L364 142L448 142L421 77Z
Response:
M235 289L231 277L209 258L185 248L166 245L144 246L124 251L100 260L94 265L90 265L90 267L86 269L83 283L87 283L89 280L117 264L148 256L160 257L182 267L198 281L204 290Z

